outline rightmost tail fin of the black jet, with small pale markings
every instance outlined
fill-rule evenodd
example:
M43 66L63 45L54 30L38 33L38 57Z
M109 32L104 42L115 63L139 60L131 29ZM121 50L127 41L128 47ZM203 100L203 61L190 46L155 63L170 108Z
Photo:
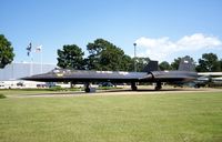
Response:
M182 58L178 70L179 71L195 71L195 65L193 63L193 60L189 55Z

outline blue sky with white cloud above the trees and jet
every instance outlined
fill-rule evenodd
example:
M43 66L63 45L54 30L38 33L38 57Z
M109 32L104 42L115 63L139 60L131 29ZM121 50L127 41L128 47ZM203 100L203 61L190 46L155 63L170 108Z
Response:
M13 62L57 64L57 50L98 38L125 54L172 62L203 53L222 59L222 0L1 0L0 34L12 43ZM27 55L27 47L42 45Z

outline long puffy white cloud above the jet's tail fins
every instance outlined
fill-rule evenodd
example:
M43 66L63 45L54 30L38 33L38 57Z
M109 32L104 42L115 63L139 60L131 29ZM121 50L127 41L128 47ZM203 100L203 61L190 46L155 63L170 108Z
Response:
M171 41L168 37L159 39L142 37L135 43L142 51L139 52L139 55L149 57L153 60L165 60L167 55L182 51L200 51L222 47L222 41L216 37L205 36L203 33L184 36L178 41Z

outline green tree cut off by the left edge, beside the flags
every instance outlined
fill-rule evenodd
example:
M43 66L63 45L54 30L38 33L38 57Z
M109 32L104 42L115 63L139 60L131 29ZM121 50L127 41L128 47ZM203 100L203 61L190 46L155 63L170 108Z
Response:
M13 61L14 53L11 42L8 41L3 34L0 34L0 68L4 68L7 64Z

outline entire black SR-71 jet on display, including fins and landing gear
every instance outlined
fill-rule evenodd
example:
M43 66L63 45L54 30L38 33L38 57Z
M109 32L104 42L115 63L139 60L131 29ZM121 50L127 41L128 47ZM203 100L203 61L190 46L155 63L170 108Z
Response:
M88 71L54 69L48 73L22 78L22 80L42 82L82 82L85 83L85 92L90 92L91 82L131 83L131 89L137 90L137 82L153 82L155 90L162 88L163 82L182 83L190 82L198 78L194 72L194 64L189 57L181 60L179 70L158 71L158 61L150 61L144 72L122 71Z

